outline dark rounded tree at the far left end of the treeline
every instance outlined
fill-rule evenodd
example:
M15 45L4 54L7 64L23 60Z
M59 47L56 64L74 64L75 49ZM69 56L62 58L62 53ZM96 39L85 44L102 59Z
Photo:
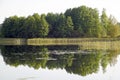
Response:
M17 37L19 31L19 18L17 16L12 16L6 18L2 24L1 33L3 37L14 38Z

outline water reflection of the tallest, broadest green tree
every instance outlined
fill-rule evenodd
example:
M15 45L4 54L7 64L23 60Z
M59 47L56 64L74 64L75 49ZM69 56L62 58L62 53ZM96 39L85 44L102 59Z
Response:
M96 73L99 68L100 54L77 55L78 59L74 60L71 67L66 67L70 73L86 76L87 74Z

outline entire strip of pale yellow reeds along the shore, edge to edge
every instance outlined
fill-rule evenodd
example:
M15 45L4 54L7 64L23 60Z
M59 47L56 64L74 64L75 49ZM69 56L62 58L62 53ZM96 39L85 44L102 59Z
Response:
M81 49L120 49L119 38L0 38L0 45L79 45Z

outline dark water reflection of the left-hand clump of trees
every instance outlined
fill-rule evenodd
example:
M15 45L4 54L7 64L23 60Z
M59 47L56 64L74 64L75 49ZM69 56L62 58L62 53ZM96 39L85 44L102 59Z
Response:
M42 53L40 53L42 52ZM44 68L48 58L48 49L44 46L4 46L4 61L11 66L28 65L35 69ZM44 59L39 59L44 58Z

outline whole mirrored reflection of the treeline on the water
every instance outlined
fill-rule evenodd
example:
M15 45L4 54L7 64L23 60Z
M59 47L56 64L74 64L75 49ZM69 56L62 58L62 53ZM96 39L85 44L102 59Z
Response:
M66 54L50 54L48 48L45 46L4 46L2 55L6 64L11 66L27 65L34 69L61 68L68 73L86 76L97 73L100 65L105 72L108 64L115 65L119 53L118 51L86 51L71 54L68 51Z

